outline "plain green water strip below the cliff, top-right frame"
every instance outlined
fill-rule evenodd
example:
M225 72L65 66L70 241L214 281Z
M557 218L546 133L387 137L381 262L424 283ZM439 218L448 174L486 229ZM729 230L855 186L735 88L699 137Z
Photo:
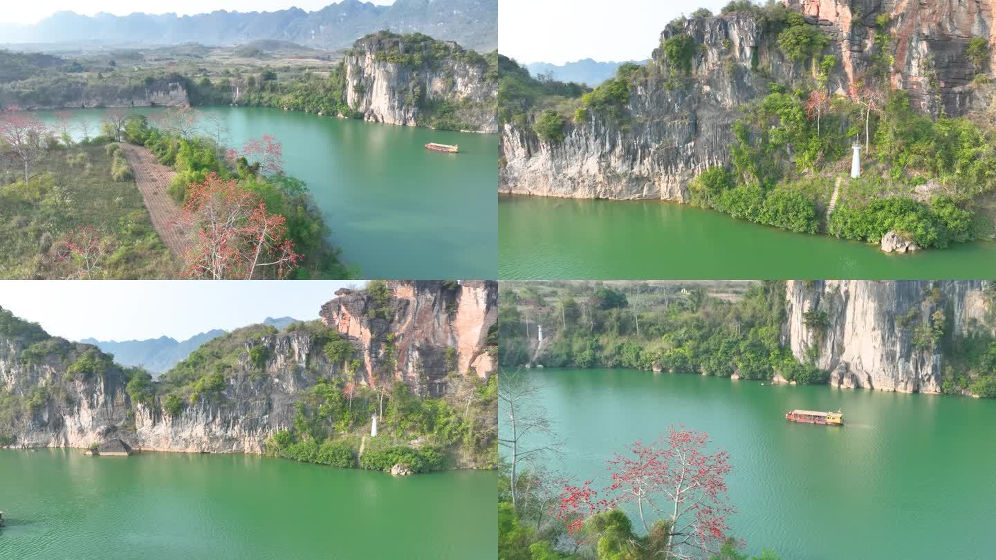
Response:
M500 196L504 279L992 278L996 243L888 255L663 201Z

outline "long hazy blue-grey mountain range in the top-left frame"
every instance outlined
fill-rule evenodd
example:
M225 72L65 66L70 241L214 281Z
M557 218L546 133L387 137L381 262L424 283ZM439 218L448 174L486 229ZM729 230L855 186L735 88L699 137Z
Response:
M0 24L0 41L97 45L240 45L279 39L310 47L339 49L381 29L419 32L456 41L478 51L498 46L498 0L396 0L378 6L343 0L315 12L289 8L276 12L228 12L177 16L56 12L37 24Z

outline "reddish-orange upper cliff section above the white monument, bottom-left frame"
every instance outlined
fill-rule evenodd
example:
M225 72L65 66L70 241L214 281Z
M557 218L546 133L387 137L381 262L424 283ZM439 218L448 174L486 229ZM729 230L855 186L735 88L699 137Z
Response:
M367 292L340 290L322 306L322 321L360 345L365 383L375 386L373 373L387 370L419 389L424 372L429 393L438 395L452 371L482 378L494 373L487 338L498 318L495 282L388 281L387 286L389 323L374 316L376 302ZM450 358L448 348L454 349Z

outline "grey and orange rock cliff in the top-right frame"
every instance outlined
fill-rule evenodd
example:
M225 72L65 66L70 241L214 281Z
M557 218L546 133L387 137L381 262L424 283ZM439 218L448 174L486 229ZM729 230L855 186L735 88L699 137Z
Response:
M991 38L996 2L926 0L786 0L830 36L824 55L839 64L828 87L845 94L869 71L876 17L891 16L891 80L909 90L914 107L962 115L981 109L975 74L965 58L971 37ZM669 26L695 42L691 73L668 79L661 49L648 63L649 77L629 91L629 119L615 122L589 113L565 128L563 142L541 141L533 123L501 129L499 192L576 198L685 201L687 184L710 165L729 162L733 123L741 108L767 95L771 81L792 84L812 74L809 61L793 63L750 14L688 20ZM996 41L990 40L990 46ZM977 99L980 98L980 99Z

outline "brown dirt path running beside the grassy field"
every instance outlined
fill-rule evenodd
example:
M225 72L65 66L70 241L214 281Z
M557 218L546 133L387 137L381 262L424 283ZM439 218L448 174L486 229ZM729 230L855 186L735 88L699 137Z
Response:
M166 192L176 171L155 162L152 154L140 145L122 142L122 152L134 173L145 207L152 218L152 227L174 257L180 258L186 248L186 237L177 226L180 206Z

